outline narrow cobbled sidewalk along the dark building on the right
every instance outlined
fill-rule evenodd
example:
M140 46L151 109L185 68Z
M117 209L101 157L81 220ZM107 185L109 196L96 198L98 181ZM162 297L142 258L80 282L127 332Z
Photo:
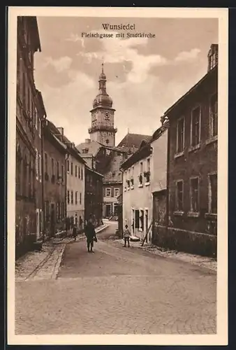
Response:
M124 239L116 239L117 243L124 245ZM145 243L141 246L142 241L132 241L131 246L134 248L140 248L144 251L148 251L149 253L161 255L165 258L172 258L177 260L182 260L185 262L189 262L192 265L206 267L207 269L211 269L212 271L217 271L217 261L213 258L208 258L207 256L201 255L193 255L190 253L184 253L182 251L170 251L165 250L164 248L154 246L153 244Z

